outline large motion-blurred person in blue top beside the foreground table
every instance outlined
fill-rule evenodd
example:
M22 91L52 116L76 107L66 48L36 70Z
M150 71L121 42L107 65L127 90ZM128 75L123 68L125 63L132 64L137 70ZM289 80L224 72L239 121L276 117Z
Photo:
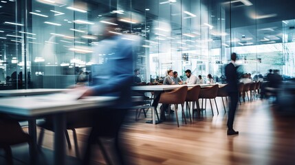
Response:
M91 118L93 125L87 141L87 148L83 164L89 164L91 144L97 142L98 137L112 137L115 140L115 154L118 154L120 164L124 164L119 150L118 135L127 108L131 106L131 84L133 83L133 43L139 44L138 36L127 34L117 35L118 20L115 17L103 17L98 25L98 35L103 40L94 50L94 61L100 63L102 71L98 76L93 75L93 86L88 87L85 96L117 96L118 100L107 109L98 109ZM100 58L98 54L105 54ZM116 163L116 164L119 164Z

